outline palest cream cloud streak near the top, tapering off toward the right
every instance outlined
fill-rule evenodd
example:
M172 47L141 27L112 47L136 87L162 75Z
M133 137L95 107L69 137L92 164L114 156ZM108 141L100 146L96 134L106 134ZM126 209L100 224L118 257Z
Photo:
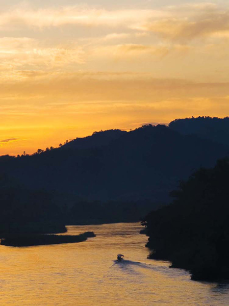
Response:
M90 7L81 8L79 6L39 10L17 9L0 14L0 27L8 25L13 30L21 26L44 28L59 27L67 24L118 27L123 24L136 23L139 19L147 20L149 18L166 17L167 15L167 12L160 10L125 9L108 11Z

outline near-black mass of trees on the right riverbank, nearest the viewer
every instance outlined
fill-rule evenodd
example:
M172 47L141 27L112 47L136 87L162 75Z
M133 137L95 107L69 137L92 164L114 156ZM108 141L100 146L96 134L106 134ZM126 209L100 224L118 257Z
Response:
M179 190L171 205L148 214L149 258L191 271L192 279L229 278L229 161L201 168Z

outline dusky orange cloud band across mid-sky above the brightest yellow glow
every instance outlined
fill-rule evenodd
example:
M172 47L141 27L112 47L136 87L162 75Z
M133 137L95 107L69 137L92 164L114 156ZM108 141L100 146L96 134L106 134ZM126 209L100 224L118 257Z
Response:
M46 105L47 100L56 103L73 101L158 101L171 97L220 97L229 95L228 82L193 82L181 79L156 79L147 73L110 73L110 72L78 72L52 73L39 71L18 72L17 81L2 81L0 98L14 101L18 98L31 98L39 104ZM3 86L4 85L4 86ZM45 102L46 101L46 102ZM28 100L26 105L31 104ZM9 105L9 103L8 103ZM1 106L3 107L3 105ZM20 109L20 106L17 107Z

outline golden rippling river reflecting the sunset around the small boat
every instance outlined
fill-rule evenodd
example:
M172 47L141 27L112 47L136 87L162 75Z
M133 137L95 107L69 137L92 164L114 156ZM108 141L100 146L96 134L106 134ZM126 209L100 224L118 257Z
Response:
M227 306L229 284L190 281L188 272L147 259L139 223L68 226L94 231L81 243L0 246L0 305ZM116 261L117 253L125 261Z

